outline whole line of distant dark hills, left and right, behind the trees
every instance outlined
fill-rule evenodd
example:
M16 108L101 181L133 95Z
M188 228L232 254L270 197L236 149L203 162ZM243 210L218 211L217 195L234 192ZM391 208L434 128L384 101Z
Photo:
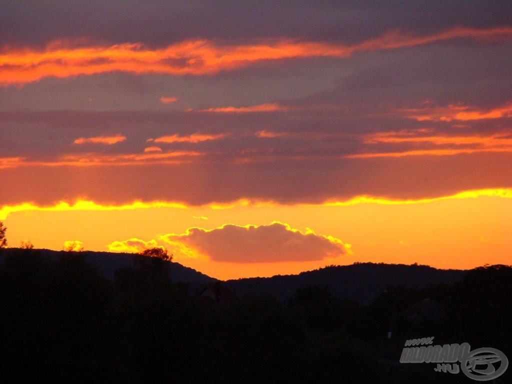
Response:
M0 252L0 265L8 254L20 254L24 249L7 248ZM45 257L56 258L65 251L39 249ZM133 267L133 253L82 251L106 278L113 279L120 268ZM219 281L193 268L170 262L169 273L174 282L203 285ZM287 301L298 288L319 285L329 288L334 297L347 298L363 305L370 304L388 287L426 288L435 284L454 284L464 278L466 271L436 269L426 265L356 263L329 266L295 275L275 275L270 278L227 280L225 284L238 296L244 294L270 295Z

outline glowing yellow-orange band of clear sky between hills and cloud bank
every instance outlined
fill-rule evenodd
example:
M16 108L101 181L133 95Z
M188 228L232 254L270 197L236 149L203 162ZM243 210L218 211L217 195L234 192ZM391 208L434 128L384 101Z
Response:
M174 253L176 262L221 279L298 273L355 261L418 262L445 269L510 264L512 189L465 191L422 200L358 197L297 205L251 205L241 201L224 209L215 208L212 204L196 207L168 202L109 206L80 201L51 207L20 204L4 206L0 219L8 227L11 247L29 239L36 248L60 250L64 241L73 238L80 239L85 249L95 251L140 251L146 246L164 246ZM207 221L203 219L206 217ZM350 252L334 259L271 263L212 261L198 252L197 245L204 241L206 232L226 223L240 228L260 227L276 218L303 235L314 232L332 241L350 243ZM187 228L204 228L203 237L189 237L187 242L168 237L186 234ZM214 244L216 239L210 240Z

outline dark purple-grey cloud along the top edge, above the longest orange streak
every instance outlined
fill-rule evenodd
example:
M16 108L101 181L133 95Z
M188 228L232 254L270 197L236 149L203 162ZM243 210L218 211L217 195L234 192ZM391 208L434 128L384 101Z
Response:
M237 39L288 36L356 42L390 29L436 32L454 25L509 25L512 4L503 1L379 2L161 0L140 2L10 0L2 3L0 46L44 46L56 39L164 46L188 38Z

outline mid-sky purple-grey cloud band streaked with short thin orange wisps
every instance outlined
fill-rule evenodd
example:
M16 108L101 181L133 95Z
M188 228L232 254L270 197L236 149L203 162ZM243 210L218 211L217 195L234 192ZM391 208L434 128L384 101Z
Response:
M340 88L341 92L345 92ZM320 95L323 97L323 95ZM319 103L333 104L332 97ZM501 118L457 120L449 104L436 102L411 103L393 101L394 94L380 104L352 102L340 104L339 110L315 110L311 102L292 106L289 111L261 113L208 113L200 111L44 111L0 112L3 140L2 157L24 157L29 162L66 159L99 159L100 162L161 162L161 158L138 160L148 146L158 146L162 154L195 153L195 162L269 162L281 160L315 160L342 158L362 154L395 153L427 150L485 150L482 140L509 132L509 114ZM321 97L318 97L320 99ZM461 104L462 105L462 104ZM492 109L512 108L510 102L493 105ZM345 108L346 107L346 108ZM313 108L310 110L309 108ZM486 105L458 106L467 111L485 114ZM408 112L408 111L413 112ZM465 110L464 110L465 111ZM479 112L481 111L481 112ZM432 120L418 121L414 115L432 115ZM444 120L443 120L444 119ZM446 121L446 119L452 119ZM463 127L463 129L461 129ZM198 142L178 140L155 143L151 139L177 135L209 135ZM375 135L393 135L395 141L380 140ZM123 135L126 140L114 145L84 143L74 145L78 138ZM220 135L220 136L219 136ZM265 137L266 135L266 137ZM433 140L411 141L408 136L442 136L444 143ZM263 137L262 137L263 136ZM477 137L471 141L471 137ZM373 139L372 139L373 138ZM462 139L461 139L462 138ZM464 141L464 138L468 138ZM461 141L462 140L462 141ZM469 142L467 140L470 140ZM493 147L506 150L510 144L495 141ZM510 148L512 150L512 148ZM132 157L122 158L122 156ZM117 157L117 158L116 158ZM187 157L187 156L185 156ZM181 156L178 156L182 159ZM178 159L177 158L177 159ZM175 160L177 160L175 159ZM136 161L137 160L137 161ZM141 160L141 161L139 161ZM172 159L163 159L172 160ZM182 159L183 160L183 159ZM37 164L35 164L37 165ZM364 193L364 191L361 191Z

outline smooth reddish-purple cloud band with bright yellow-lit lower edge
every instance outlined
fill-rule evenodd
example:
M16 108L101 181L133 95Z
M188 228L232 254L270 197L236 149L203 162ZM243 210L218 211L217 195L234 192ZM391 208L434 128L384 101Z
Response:
M418 199L512 185L509 154L374 159L282 159L179 165L19 167L0 170L2 204L93 199L188 204L240 198L319 203L356 195Z

